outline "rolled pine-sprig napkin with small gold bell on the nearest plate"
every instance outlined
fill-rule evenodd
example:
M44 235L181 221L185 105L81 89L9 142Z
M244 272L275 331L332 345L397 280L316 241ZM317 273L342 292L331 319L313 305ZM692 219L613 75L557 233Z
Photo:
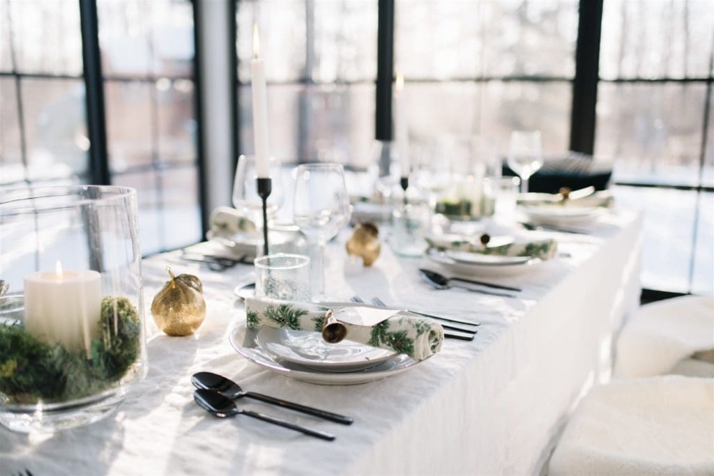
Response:
M345 303L344 308L356 305ZM338 308L311 303L293 303L269 298L246 299L246 323L249 328L313 330L322 333L326 318ZM395 312L398 312L395 310ZM346 339L373 347L396 350L424 360L441 350L444 333L433 320L399 313L373 326L343 323Z

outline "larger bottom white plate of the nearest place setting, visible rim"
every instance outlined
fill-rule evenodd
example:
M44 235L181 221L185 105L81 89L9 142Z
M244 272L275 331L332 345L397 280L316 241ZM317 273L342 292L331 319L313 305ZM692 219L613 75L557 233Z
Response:
M374 382L406 372L406 370L428 360L417 361L408 355L398 354L379 365L365 370L349 373L320 372L304 368L295 363L286 362L267 352L256 344L255 338L257 334L258 330L248 329L246 323L240 323L231 330L228 340L238 354L252 363L286 377L318 385L356 385Z

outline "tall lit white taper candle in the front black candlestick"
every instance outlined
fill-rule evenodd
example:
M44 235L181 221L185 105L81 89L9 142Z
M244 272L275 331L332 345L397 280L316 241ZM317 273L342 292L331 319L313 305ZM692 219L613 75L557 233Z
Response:
M253 24L253 59L251 60L251 92L253 93L253 143L256 148L258 178L268 178L270 170L268 152L268 108L266 101L266 74L260 59L258 25Z

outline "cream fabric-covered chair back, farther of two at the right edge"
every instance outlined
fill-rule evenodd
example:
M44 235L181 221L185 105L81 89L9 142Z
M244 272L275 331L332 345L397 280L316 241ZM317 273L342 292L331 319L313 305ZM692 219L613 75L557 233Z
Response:
M680 360L714 349L714 298L683 296L643 305L625 324L615 377L669 372Z

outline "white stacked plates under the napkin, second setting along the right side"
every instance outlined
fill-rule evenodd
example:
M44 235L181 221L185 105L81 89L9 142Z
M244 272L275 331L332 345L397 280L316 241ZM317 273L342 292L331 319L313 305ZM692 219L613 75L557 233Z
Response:
M440 251L435 248L428 250L426 257L456 273L494 278L528 273L543 264L540 258L528 256L479 255L467 251Z

